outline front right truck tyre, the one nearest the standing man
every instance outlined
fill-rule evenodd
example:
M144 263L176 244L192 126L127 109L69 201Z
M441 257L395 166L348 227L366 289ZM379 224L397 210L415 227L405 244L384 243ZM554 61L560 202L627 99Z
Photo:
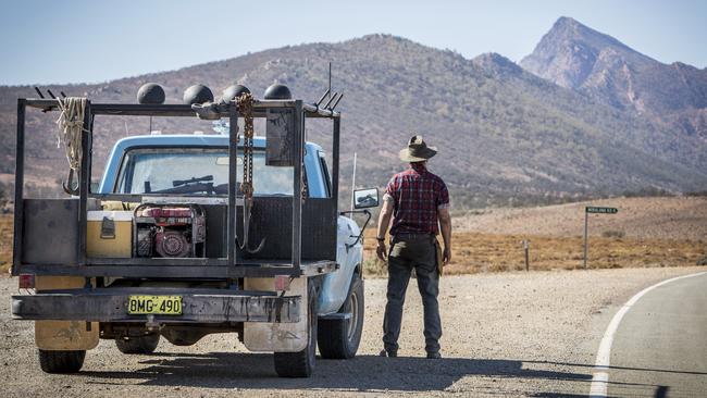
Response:
M349 294L338 313L350 313L349 319L319 321L319 352L326 359L356 357L363 332L363 281L354 273Z

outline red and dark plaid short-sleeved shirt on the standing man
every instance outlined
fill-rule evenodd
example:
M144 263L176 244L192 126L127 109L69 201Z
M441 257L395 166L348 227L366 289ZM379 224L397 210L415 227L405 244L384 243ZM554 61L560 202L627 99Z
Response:
M439 233L437 209L449 208L449 192L442 178L430 173L424 164L413 163L394 175L385 196L393 199L390 235Z

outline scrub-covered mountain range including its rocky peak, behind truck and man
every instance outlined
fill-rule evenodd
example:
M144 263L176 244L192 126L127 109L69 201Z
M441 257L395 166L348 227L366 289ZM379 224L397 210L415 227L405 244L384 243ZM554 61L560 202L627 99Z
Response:
M327 85L345 92L342 194L350 186L385 186L405 167L397 152L422 134L438 147L430 169L449 185L459 208L519 204L637 190L686 192L707 188L707 71L666 65L579 22L561 17L520 65L497 53L467 59L390 35L308 43L111 80L46 88L96 102L135 102L147 82L166 101L204 84L214 94L233 83L260 97L272 83L314 101ZM0 173L13 173L15 105L30 86L0 87ZM57 115L33 112L27 165L36 185L55 186L65 159L55 146ZM92 178L113 142L145 134L148 121L96 121ZM208 132L204 122L153 121L163 134ZM324 122L308 138L324 147ZM7 178L5 178L7 179Z

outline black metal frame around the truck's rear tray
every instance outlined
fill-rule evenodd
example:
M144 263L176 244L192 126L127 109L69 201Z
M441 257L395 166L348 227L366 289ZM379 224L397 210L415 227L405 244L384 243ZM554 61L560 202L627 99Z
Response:
M307 261L301 260L301 214L302 198L301 186L303 177L305 154L305 121L307 117L323 117L333 121L333 167L332 167L332 196L336 219L338 207L338 173L339 173L339 133L340 114L336 111L322 109L317 104L307 104L301 100L256 100L253 102L253 117L265 117L269 109L290 108L295 110L295 153L294 166L294 195L293 195L293 249L292 261L236 261L236 186L237 163L230 162L227 195L227 250L225 258L204 259L137 259L137 258L89 258L86 256L87 209L88 198L103 200L122 200L140 202L144 197L175 197L173 194L91 194L90 175L92 164L92 130L96 115L126 115L126 116L183 116L197 117L196 112L188 104L124 104L124 103L91 103L87 102L84 125L88 126L87 133L82 135L82 172L79 175L79 216L76 265L67 264L24 264L22 263L23 237L23 199L24 199L24 154L25 154L25 114L26 109L35 108L45 112L58 109L54 99L17 99L17 139L15 154L15 216L12 274L34 273L42 275L78 275L78 276L168 276L168 277L206 277L206 278L236 278L236 277L266 277L275 275L290 275L294 277L321 274L336 270L335 261ZM238 153L238 111L235 102L227 110L220 111L221 117L231 121L228 156L235 159ZM190 195L181 195L190 197ZM223 196L216 196L223 197ZM166 262L166 264L160 264Z

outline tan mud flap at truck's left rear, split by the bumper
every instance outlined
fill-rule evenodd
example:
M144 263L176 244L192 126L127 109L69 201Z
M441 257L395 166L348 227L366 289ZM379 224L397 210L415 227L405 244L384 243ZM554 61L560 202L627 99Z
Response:
M76 276L35 277L37 291L84 287L85 278ZM90 325L90 329L88 329ZM90 350L98 346L98 322L35 321L35 343L42 350Z

